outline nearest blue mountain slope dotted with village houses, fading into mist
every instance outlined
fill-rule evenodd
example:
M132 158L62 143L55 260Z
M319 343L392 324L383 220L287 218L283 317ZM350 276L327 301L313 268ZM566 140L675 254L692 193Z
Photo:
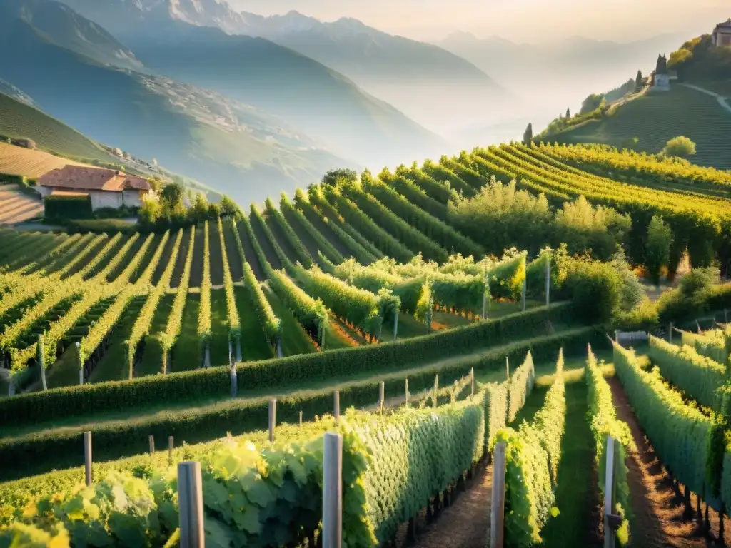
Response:
M152 4L126 36L154 67L67 4L0 0L0 47L13 52L0 57L0 78L94 140L241 201L333 167L443 151L435 134L317 61L166 12L158 18Z

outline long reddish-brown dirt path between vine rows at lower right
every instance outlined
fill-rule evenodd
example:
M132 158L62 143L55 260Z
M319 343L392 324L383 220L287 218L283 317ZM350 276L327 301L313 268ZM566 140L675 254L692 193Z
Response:
M607 379L618 419L632 430L637 452L629 454L629 492L633 517L630 536L633 547L705 547L694 520L683 521L683 504L675 496L670 476L665 473L652 446L640 428L619 379Z

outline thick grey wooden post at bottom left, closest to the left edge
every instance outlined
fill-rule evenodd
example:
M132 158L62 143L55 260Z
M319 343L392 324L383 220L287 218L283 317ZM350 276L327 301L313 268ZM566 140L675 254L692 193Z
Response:
M204 548L203 486L197 461L178 463L178 506L181 548Z

